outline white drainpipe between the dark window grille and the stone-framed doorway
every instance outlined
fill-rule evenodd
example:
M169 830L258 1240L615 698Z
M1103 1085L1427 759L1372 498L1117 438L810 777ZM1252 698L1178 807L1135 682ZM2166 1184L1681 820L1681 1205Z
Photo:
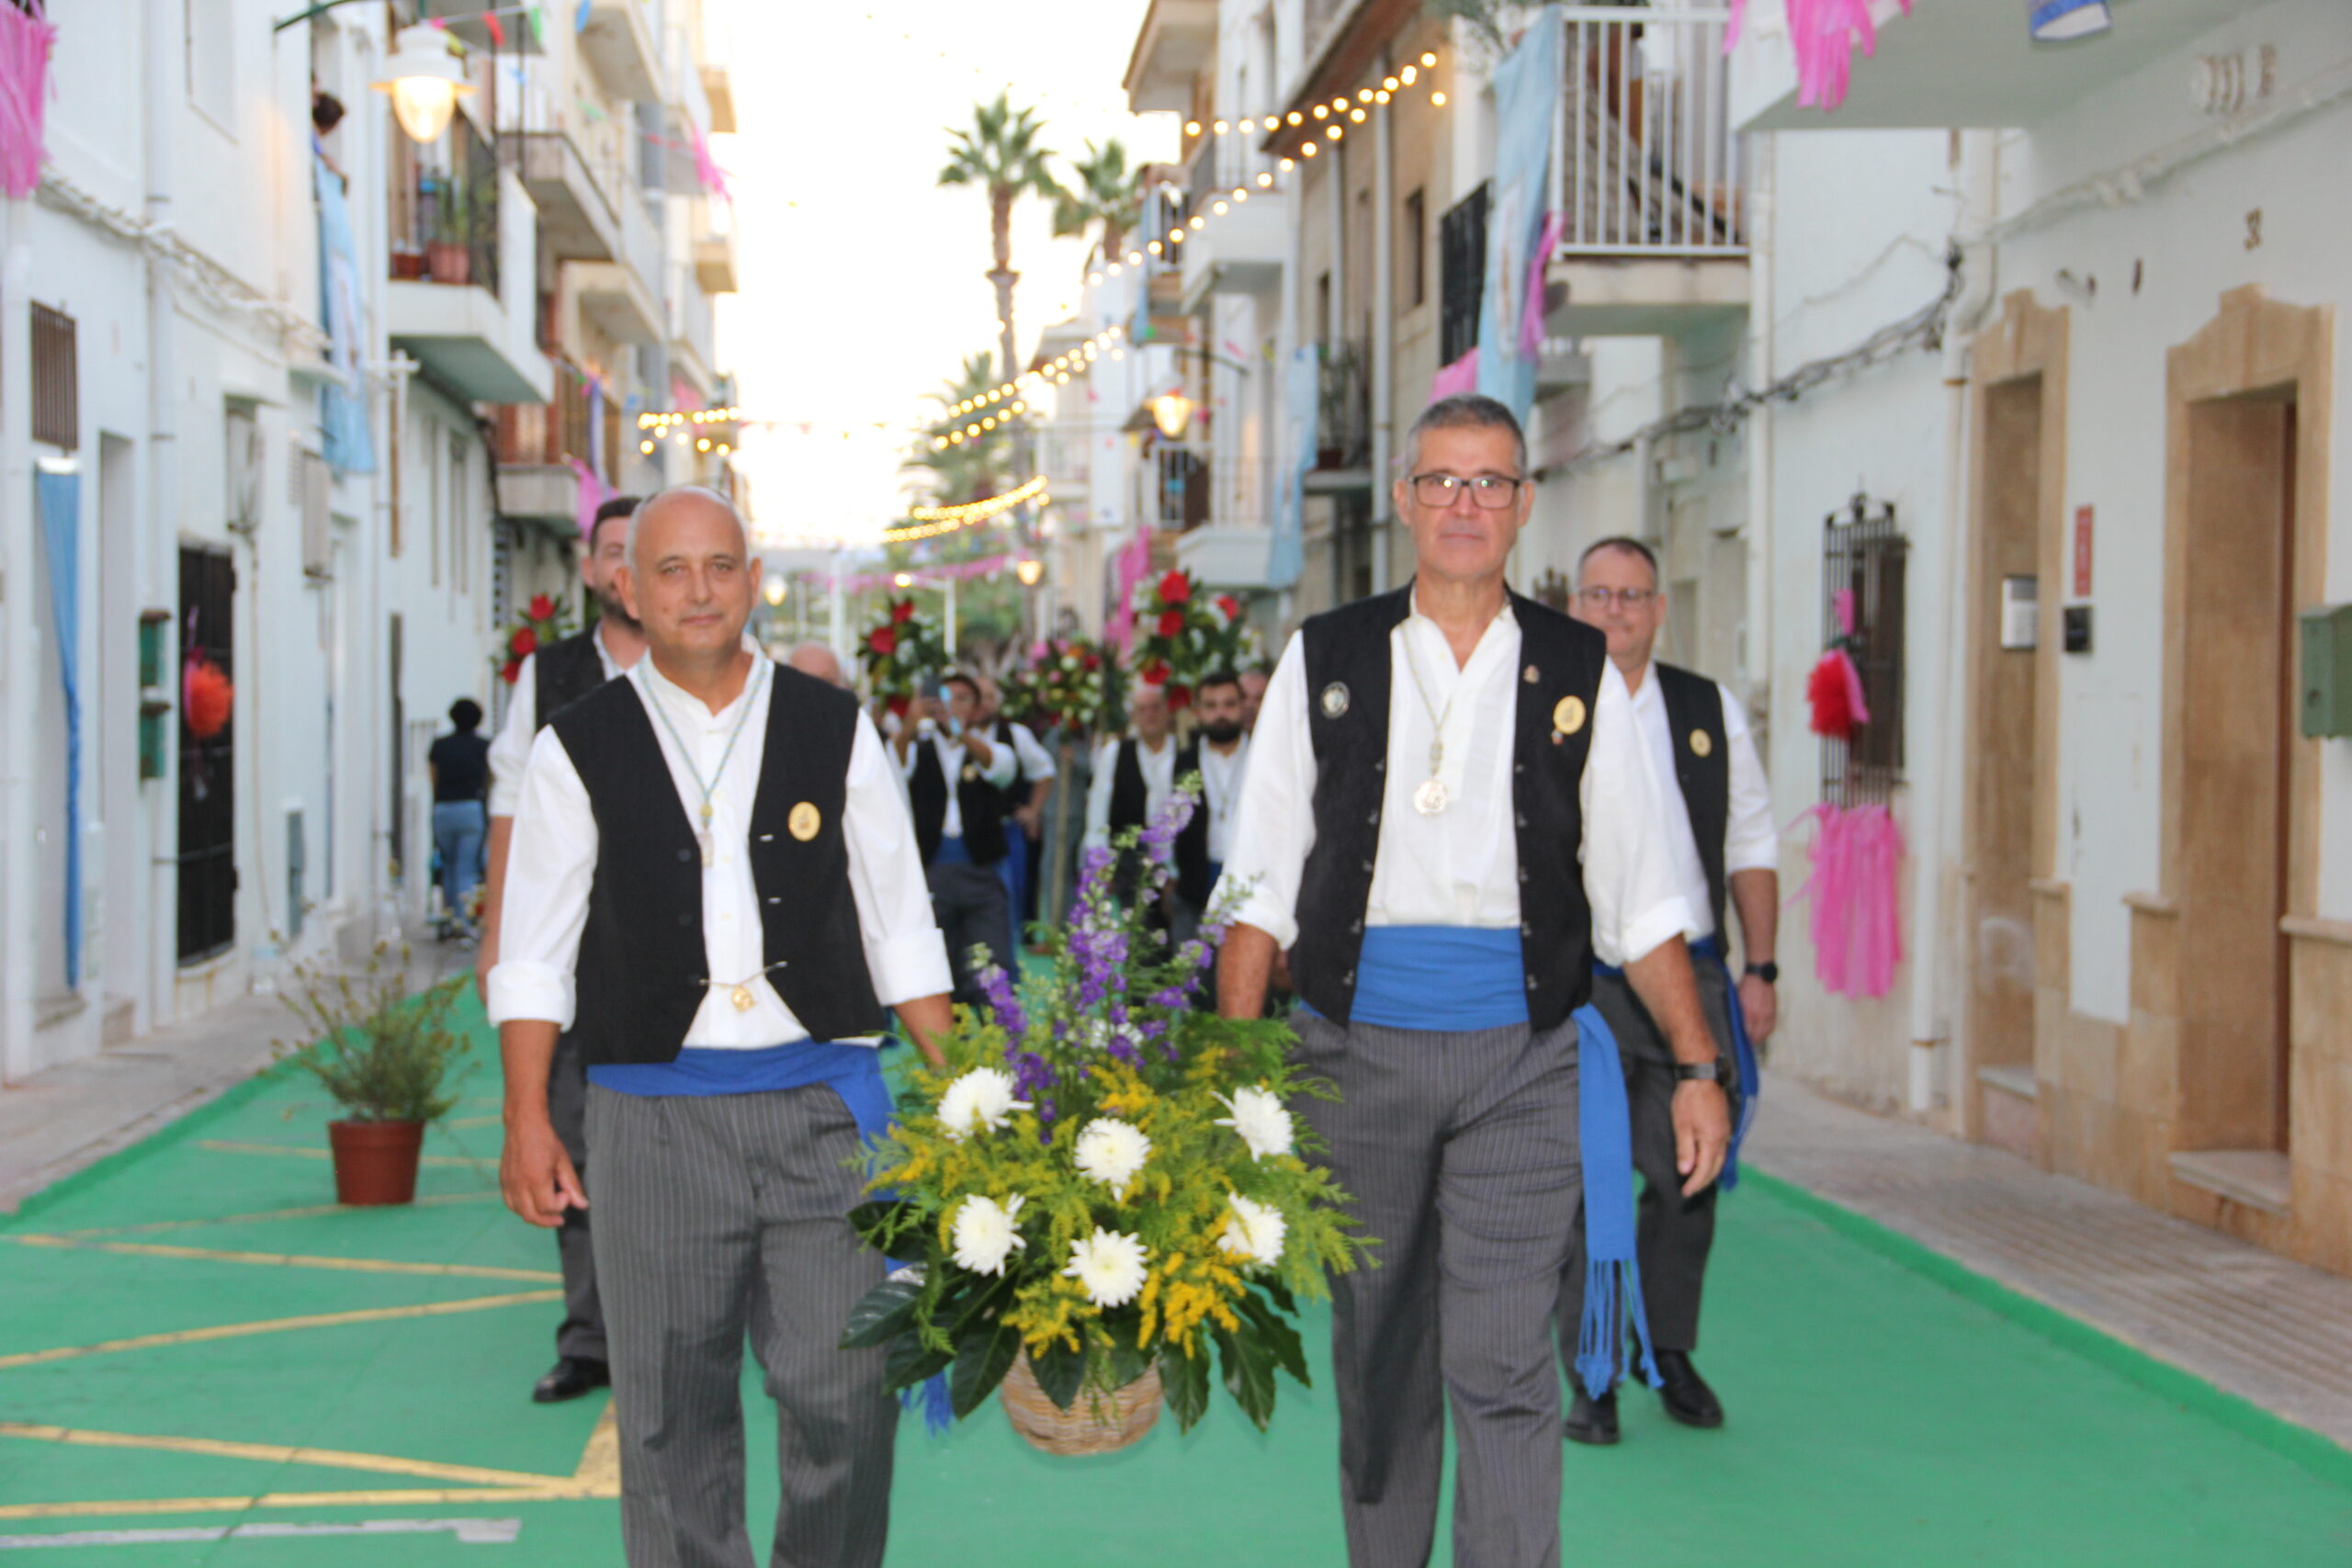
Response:
M1962 212L1955 233L1983 233L1997 200L1997 132L1966 132L1962 141ZM1962 614L1966 604L1964 541L1969 536L1969 336L1992 306L1994 249L1971 242L1962 252L1962 289L1943 327L1945 447L1943 447L1943 517L1938 520L1938 571L1943 585L1936 621L1926 628L1936 639L1936 682L1926 689L1924 743L1912 771L1912 994L1910 994L1910 1110L1936 1110L1936 1046L1952 1039L1952 1004L1945 994L1947 959L1955 943L1969 940L1955 929L1945 891L1952 860L1959 856L1959 832L1952 823L1950 759L1962 750L1964 693L1959 642L1969 635Z

